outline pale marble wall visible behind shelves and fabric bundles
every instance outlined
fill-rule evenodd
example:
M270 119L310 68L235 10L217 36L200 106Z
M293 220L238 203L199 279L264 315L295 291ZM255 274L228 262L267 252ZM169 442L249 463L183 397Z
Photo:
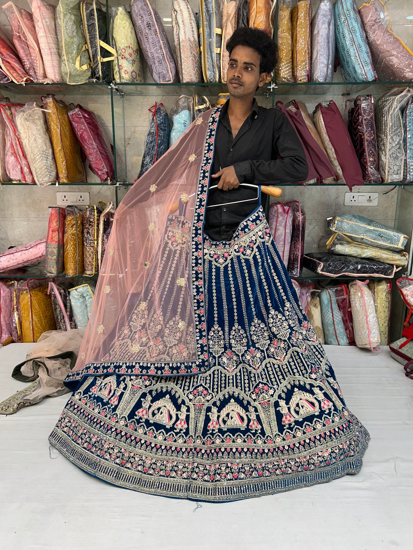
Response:
M57 2L55 2L57 3ZM358 0L358 4L361 5ZM18 0L21 7L28 7L26 0ZM168 19L170 15L171 0L155 0L153 2L159 10L162 19ZM198 2L191 0L191 5L195 11L198 11ZM313 10L316 9L318 2L313 2ZM413 20L407 20L407 15L413 15L413 7L411 2L406 0L391 0L387 2L390 15L392 15L392 28L396 35L405 40L406 44L413 48L413 27L407 27L406 24L413 24ZM2 12L2 10L0 10ZM0 13L0 25L4 26L6 18L3 13ZM164 21L166 31L171 43L172 27L169 26L170 21ZM147 73L147 72L146 72ZM150 77L146 74L147 81ZM341 75L336 74L335 80L341 80ZM80 94L80 90L73 87L70 94ZM327 90L324 89L326 92ZM374 89L377 93L377 87ZM133 179L139 172L140 162L142 160L144 139L148 130L150 113L148 108L154 105L154 102L164 103L167 111L176 100L176 96L171 96L169 90L163 91L162 95L149 96L148 90L143 91L137 88L127 89L124 87L126 95L123 98L115 97L115 126L116 126L116 145L118 150L118 179L126 179L128 182L133 182ZM188 90L188 94L191 93ZM371 92L364 90L363 93ZM383 90L382 90L383 91ZM66 102L81 103L84 107L94 111L104 124L106 131L111 134L112 119L111 105L109 95L89 95L85 94L84 89L81 95L57 95ZM278 90L281 94L282 90ZM300 94L302 90L296 89L295 93ZM328 95L300 95L301 101L306 102L308 111L312 112L319 101L334 99L341 112L345 115L345 101L349 99L346 94L348 90L345 86L329 87ZM218 91L217 91L218 93ZM139 94L139 95L135 95ZM334 94L334 95L333 95ZM284 102L289 101L292 97L279 96L278 98ZM297 96L298 97L298 96ZM210 101L215 101L216 95L209 96ZM26 95L12 95L12 101L40 101L39 97ZM260 105L271 107L271 99L267 99L260 95L257 97ZM96 177L88 171L88 180L96 182ZM33 186L11 186L4 185L0 189L0 250L7 249L10 245L19 245L29 240L44 237L47 230L47 207L56 204L56 191L61 191L63 188L50 186L45 189L39 189L36 185ZM67 188L64 188L67 189ZM115 190L107 185L102 186L79 186L73 187L73 190L89 191L91 199L95 204L99 200L114 200ZM360 208L355 210L362 215L372 217L378 221L393 226L398 223L396 219L396 205L398 200L399 189L392 191L387 195L383 195L385 191L391 189L391 186L380 188L369 187L369 191L378 191L379 204L377 207ZM354 189L357 190L356 188ZM351 207L344 207L344 193L346 188L333 186L317 186L311 188L291 187L283 189L282 201L299 200L307 214L307 234L306 234L306 251L315 251L322 247L328 235L326 229L326 218L334 215L334 213L346 212L351 210ZM119 193L123 196L124 191Z

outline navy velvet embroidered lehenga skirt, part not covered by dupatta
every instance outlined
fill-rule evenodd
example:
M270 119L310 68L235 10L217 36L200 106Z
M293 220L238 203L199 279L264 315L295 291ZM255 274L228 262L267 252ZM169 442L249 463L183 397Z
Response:
M85 376L50 442L88 474L226 502L361 469L369 434L347 409L262 207L231 241L204 235L210 370Z

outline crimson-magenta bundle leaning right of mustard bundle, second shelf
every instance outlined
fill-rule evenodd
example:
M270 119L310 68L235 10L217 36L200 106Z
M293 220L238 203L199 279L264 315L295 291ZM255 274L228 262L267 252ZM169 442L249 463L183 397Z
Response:
M77 105L68 112L70 124L90 164L101 183L115 178L115 161L111 146L94 113Z

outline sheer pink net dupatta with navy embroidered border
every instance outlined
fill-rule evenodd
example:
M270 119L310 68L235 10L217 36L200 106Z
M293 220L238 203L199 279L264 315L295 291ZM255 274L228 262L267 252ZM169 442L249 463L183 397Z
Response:
M208 370L203 224L220 109L198 117L118 206L71 389L85 375Z

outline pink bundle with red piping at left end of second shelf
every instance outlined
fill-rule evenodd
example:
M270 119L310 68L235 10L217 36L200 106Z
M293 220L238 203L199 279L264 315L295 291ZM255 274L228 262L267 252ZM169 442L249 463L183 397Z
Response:
M24 107L22 103L0 102L0 112L6 125L6 148L4 165L6 173L12 182L34 183L29 161L20 141L19 131L15 123L15 112Z

